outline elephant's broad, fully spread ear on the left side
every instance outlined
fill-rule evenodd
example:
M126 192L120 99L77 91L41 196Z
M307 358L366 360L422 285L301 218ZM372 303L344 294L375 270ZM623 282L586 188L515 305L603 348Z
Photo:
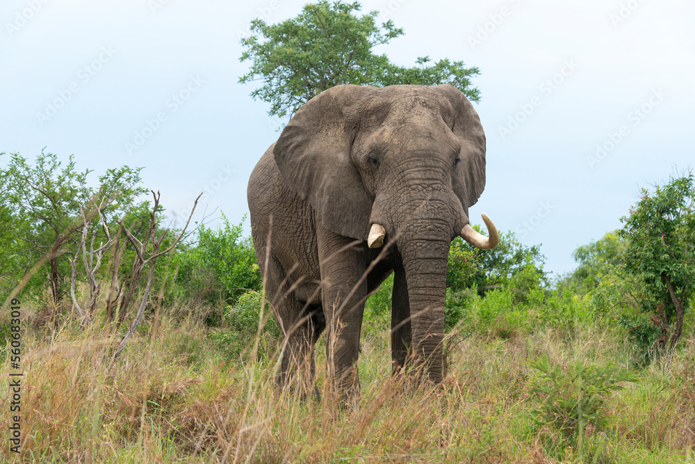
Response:
M273 149L285 181L311 204L323 227L362 240L374 199L350 156L354 124L345 111L374 89L343 85L316 95L293 115Z

